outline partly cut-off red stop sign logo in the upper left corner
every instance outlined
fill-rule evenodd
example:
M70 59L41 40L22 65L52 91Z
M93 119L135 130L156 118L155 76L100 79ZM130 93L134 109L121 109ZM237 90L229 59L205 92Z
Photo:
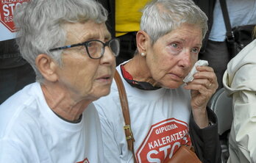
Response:
M24 1L29 0L1 0L0 1L0 22L10 30L15 32L15 26L13 23L13 10L18 5L21 5Z

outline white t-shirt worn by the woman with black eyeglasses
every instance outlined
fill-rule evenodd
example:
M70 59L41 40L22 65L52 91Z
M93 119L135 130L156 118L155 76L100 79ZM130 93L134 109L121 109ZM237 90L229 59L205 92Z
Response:
M68 123L51 111L40 84L29 84L0 106L0 162L104 162L95 107Z

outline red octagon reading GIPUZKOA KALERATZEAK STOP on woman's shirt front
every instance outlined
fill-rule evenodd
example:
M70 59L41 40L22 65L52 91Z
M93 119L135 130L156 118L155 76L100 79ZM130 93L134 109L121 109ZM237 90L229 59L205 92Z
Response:
M163 120L149 129L136 152L138 162L166 162L180 145L191 145L188 124L175 118Z

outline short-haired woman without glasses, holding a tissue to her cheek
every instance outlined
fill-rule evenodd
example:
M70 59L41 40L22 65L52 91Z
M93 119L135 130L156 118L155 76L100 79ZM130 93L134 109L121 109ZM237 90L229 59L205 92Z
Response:
M193 145L202 162L221 162L216 115L207 109L218 87L213 68L197 66L193 81L183 82L206 32L207 17L191 0L146 5L137 52L116 68L127 93L134 156L116 83L110 95L93 102L102 123L105 162L168 162L181 145Z

